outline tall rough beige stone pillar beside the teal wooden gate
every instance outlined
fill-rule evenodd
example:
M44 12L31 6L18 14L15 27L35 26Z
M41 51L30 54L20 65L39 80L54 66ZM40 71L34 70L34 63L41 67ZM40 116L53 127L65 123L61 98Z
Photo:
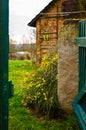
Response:
M61 108L72 112L72 102L78 92L78 23L60 28L58 36L58 100Z

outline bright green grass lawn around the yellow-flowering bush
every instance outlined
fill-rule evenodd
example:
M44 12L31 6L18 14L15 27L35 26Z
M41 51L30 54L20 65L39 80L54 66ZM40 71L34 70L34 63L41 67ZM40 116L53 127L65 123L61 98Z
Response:
M23 79L27 71L36 70L30 61L9 61L9 80L14 84L14 97L9 100L9 130L78 130L77 120L68 116L64 121L36 118L22 105Z

